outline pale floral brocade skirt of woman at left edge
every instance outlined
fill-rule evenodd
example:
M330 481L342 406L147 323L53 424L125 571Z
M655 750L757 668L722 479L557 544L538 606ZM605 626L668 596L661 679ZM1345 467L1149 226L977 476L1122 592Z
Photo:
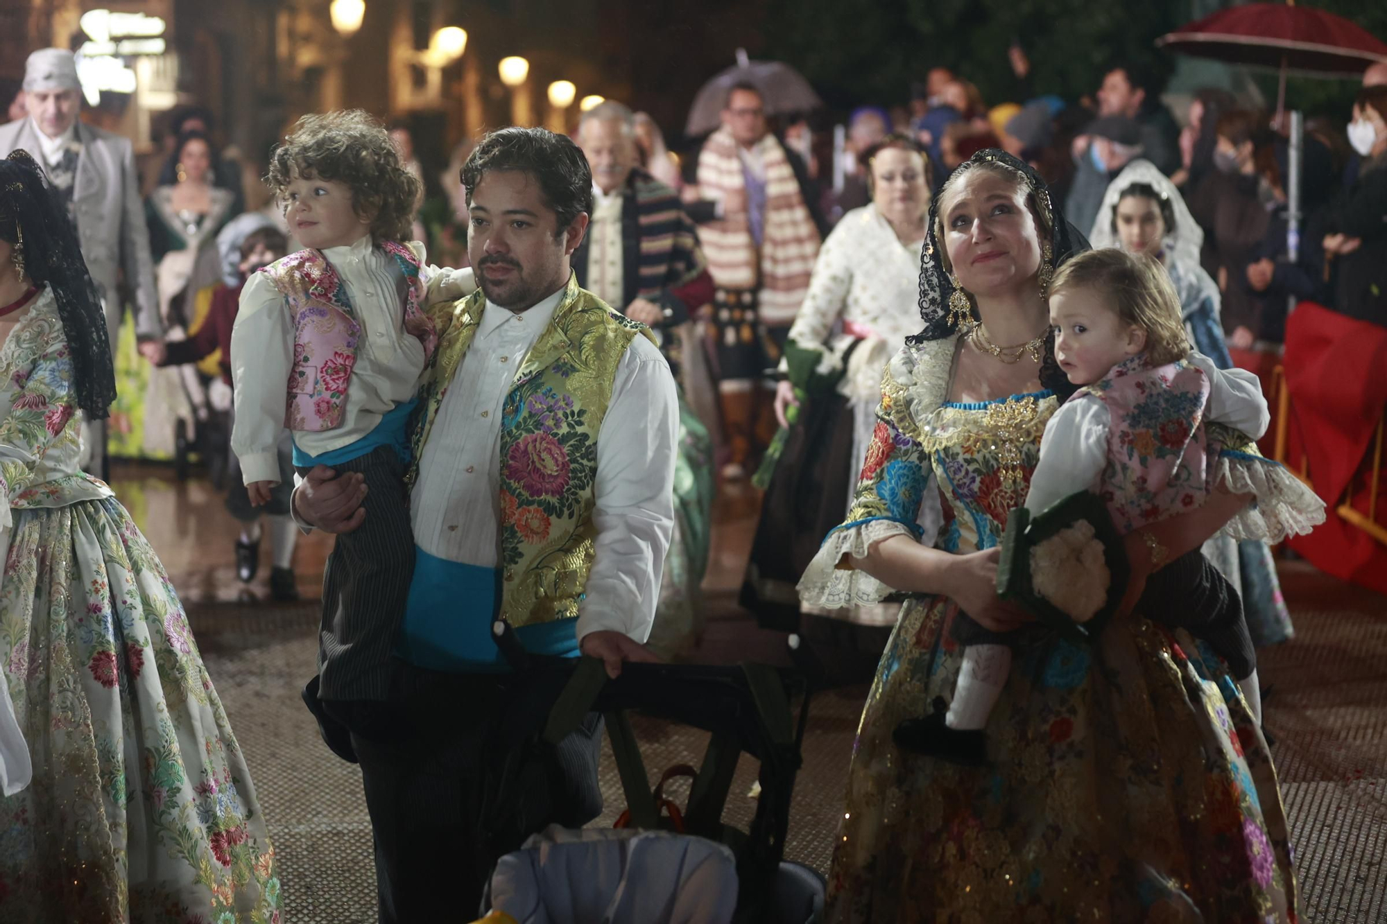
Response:
M280 920L245 762L118 501L14 511L0 667L33 759L0 796L0 920Z

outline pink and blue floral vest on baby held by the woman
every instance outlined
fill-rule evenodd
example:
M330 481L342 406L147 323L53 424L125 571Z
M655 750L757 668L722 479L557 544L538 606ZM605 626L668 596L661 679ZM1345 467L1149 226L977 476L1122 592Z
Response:
M1097 395L1112 415L1099 491L1119 533L1204 504L1214 466L1203 372L1183 359L1151 369L1139 354L1079 393Z

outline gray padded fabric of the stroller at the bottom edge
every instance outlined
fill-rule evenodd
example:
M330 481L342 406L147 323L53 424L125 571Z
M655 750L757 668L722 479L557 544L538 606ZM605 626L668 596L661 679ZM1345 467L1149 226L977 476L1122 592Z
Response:
M721 844L552 825L501 857L481 910L517 924L728 924L735 909L736 864Z

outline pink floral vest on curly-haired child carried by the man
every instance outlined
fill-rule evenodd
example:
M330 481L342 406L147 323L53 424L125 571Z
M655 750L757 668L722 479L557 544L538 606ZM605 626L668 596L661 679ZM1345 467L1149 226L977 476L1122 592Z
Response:
M379 247L395 258L405 275L405 332L423 343L427 363L438 337L423 312L419 259L393 240ZM294 365L288 373L284 426L298 431L331 430L343 422L361 336L347 290L319 250L290 254L261 272L284 293L284 305L294 320Z

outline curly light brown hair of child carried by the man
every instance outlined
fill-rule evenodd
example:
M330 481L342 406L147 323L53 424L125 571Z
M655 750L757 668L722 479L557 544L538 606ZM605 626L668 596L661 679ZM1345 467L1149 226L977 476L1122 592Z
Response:
M294 179L320 179L351 189L356 215L370 219L376 240L406 240L423 191L399 162L386 128L361 110L305 115L275 147L265 183L287 209Z

